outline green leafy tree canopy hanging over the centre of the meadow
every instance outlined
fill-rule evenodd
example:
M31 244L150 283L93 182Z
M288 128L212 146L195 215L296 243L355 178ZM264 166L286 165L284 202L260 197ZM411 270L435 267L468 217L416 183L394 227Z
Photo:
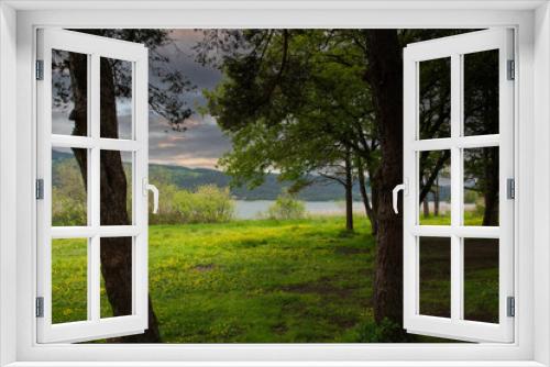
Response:
M311 173L333 174L350 149L374 171L373 107L355 42L363 38L344 30L255 30L240 37L245 52L228 45L224 79L205 96L232 140L220 166L235 185L257 187L277 169L302 188Z

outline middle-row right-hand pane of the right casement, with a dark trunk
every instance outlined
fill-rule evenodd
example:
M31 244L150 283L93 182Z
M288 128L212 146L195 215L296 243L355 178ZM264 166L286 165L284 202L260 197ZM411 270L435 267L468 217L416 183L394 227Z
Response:
M498 225L498 147L464 149L464 224Z

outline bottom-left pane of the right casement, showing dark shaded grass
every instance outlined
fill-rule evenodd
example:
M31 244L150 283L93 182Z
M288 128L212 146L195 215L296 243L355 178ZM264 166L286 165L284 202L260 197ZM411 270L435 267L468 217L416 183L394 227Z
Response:
M420 237L420 302L424 315L451 316L451 238Z

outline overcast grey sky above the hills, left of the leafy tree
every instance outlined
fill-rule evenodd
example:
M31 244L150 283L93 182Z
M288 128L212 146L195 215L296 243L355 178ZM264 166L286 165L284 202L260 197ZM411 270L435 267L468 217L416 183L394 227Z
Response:
M195 110L197 105L205 103L202 90L216 87L221 80L221 74L215 68L204 67L195 62L195 53L191 48L202 37L202 32L175 30L170 33L170 36L174 43L158 48L158 52L169 57L168 67L170 69L182 71L197 87L195 91L183 96L188 102L188 107ZM61 79L68 81L68 74L64 76L54 75L54 80ZM154 80L153 75L150 75L150 80ZM131 112L129 107L130 102L128 100L119 100L117 103L119 135L121 137L129 132ZM70 105L62 111L54 107L52 116L54 133L72 133L73 123L67 119L70 110ZM173 131L164 119L151 112L148 121L150 162L186 167L216 168L218 158L231 148L230 140L223 135L210 115L194 114L185 126L187 126L185 132Z

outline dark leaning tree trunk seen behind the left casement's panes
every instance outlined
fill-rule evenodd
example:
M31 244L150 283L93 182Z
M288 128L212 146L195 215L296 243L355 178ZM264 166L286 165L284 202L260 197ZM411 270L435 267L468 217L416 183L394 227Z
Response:
M111 65L101 59L100 131L102 137L118 137L114 81ZM75 94L75 133L87 129L87 63L86 56L70 54L69 71ZM87 157L74 149L84 181L87 181ZM127 178L120 152L102 151L100 157L100 223L101 225L131 224L127 211ZM103 237L100 244L101 274L113 315L132 314L132 238ZM161 341L158 323L148 299L148 329L139 335L111 340L117 343L156 343Z

